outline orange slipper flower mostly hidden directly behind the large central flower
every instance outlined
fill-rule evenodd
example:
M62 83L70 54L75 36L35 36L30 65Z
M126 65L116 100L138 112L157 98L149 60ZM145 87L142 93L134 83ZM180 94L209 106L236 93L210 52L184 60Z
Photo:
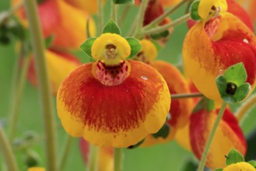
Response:
M140 40L142 44L142 50L137 54L135 60L143 61L146 64L156 68L158 72L166 80L170 94L177 93L189 93L188 83L173 65L170 65L165 61L153 61L156 59L157 51L155 45L150 40ZM189 116L192 110L192 99L172 99L170 104L170 120L167 120L167 124L170 127L170 132L167 138L149 135L142 143L141 146L154 145L156 143L163 143L171 141L177 129L184 127L189 120Z

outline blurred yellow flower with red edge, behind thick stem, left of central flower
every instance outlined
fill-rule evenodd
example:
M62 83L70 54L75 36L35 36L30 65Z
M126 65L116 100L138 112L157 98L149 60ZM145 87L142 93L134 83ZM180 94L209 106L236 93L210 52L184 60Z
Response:
M54 95L58 92L58 87L65 77L81 63L71 54L57 51L45 51L47 72L51 82L51 91ZM37 72L34 58L31 58L27 77L33 86L37 86Z

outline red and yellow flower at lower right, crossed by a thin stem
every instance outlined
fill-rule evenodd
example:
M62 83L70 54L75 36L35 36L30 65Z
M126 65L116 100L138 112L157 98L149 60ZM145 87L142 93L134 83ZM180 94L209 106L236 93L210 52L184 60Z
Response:
M219 110L212 110L211 112L199 110L191 115L189 127L191 148L198 159L202 157L207 138L218 112ZM233 116L229 109L226 109L213 138L206 166L209 169L225 167L225 155L231 149L237 149L242 155L245 155L247 144L237 118Z

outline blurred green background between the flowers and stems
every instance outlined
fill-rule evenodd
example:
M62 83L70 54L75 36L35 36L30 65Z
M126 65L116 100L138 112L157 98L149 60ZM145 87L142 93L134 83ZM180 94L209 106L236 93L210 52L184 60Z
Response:
M1 12L7 9L9 9L9 1L1 0ZM105 21L107 21L107 18L110 15L108 9L109 4L107 5L105 11L105 14L107 14L105 15ZM123 9L123 6L121 6L121 9ZM121 27L123 33L127 33L131 27L132 19L134 19L134 14L136 11L137 9L132 7L131 11L128 13L128 19L124 21L124 24ZM174 15L171 15L171 18L177 19L177 17L181 16L183 13L184 8L180 9L178 12L175 12ZM170 36L167 46L164 47L159 53L160 59L169 61L173 64L181 62L181 47L187 30L188 29L185 23L175 27L174 33L172 33ZM0 44L0 121L4 126L8 124L7 118L9 117L9 112L12 107L12 101L10 98L12 74L17 58L15 46L15 41L12 41L12 43L8 45ZM82 52L78 52L77 54L82 61L88 61ZM57 123L56 129L58 130L58 155L60 155L66 134L61 127L60 120L57 117L55 99L53 101L55 121ZM255 110L252 110L242 124L245 134L249 134L255 127L255 112ZM42 122L42 112L37 88L31 86L29 82L26 82L19 109L19 123L16 131L16 137L22 138L26 132L35 131L40 135L40 137L44 138ZM31 146L31 149L38 152L41 159L40 166L44 166L44 141L38 141L35 145ZM16 158L19 162L20 170L26 170L23 152L16 152ZM170 143L164 145L155 145L150 148L124 149L124 171L178 171L181 170L188 159L194 159L193 155L177 145L175 141L171 141ZM2 160L2 156L0 156L0 160ZM2 168L2 166L0 166L0 168ZM75 141L72 144L72 149L68 155L68 162L66 163L65 170L85 170L85 164L82 162L82 156L79 152L79 138L75 138Z

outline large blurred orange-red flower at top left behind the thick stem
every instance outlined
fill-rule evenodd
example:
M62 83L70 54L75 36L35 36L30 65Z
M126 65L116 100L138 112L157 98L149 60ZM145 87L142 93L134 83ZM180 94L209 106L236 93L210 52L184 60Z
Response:
M12 4L16 5L18 2L20 0L13 0ZM75 9L67 2L44 0L38 5L38 12L44 37L54 36L54 47L78 49L80 44L87 38L87 31L92 36L96 33L95 24L89 14ZM25 9L20 9L16 14L26 26ZM87 24L89 24L89 30L86 29Z

